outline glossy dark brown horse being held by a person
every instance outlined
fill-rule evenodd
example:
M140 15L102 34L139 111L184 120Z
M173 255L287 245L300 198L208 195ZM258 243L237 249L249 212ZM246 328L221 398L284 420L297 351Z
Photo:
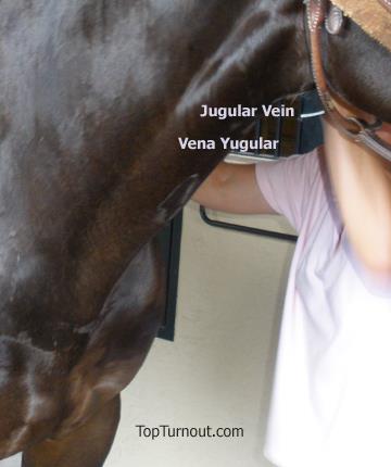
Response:
M299 0L0 1L0 458L98 467L161 319L151 239L237 136L312 86ZM325 38L335 87L391 122L390 54ZM91 441L93 440L93 441Z

